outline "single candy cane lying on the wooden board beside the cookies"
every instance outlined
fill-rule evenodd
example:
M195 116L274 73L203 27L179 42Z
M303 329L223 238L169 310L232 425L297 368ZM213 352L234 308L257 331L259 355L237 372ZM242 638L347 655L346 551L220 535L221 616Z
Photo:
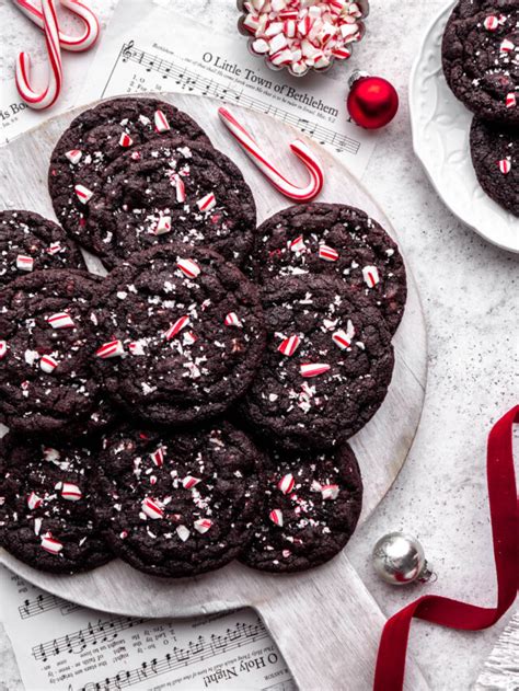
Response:
M305 187L299 187L289 182L275 165L268 161L257 142L227 108L219 108L218 114L244 152L262 171L265 177L272 182L276 189L279 189L286 197L296 199L296 201L308 201L318 196L324 184L323 169L319 160L303 141L297 139L290 145L290 149L310 173L309 184Z

